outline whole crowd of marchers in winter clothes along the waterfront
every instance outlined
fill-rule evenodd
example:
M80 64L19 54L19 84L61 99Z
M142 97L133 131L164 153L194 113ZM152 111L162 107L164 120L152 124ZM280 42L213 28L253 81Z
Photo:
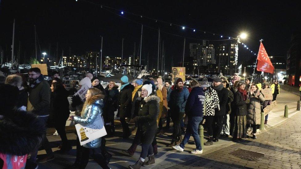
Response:
M251 78L242 81L234 74L229 81L224 76L213 82L208 82L207 78L200 82L192 80L189 87L184 87L181 78L164 83L160 76L144 82L142 79L129 82L128 77L123 76L119 91L115 82L109 82L104 88L97 77L88 73L79 82L80 87L89 87L85 99L76 95L69 104L68 92L58 72L54 72L48 82L39 68L31 68L28 75L29 85L18 74L7 76L5 84L0 85L0 167L3 168L37 168L37 163L54 159L46 126L52 125L60 135L61 153L72 149L65 132L67 119L88 125L101 116L107 133L114 135L114 112L117 110L122 137L134 135L132 145L122 153L133 156L137 146L142 147L139 159L129 165L132 169L155 164L156 137L170 129L171 121L173 131L168 145L171 150L183 151L192 136L196 149L191 153L202 154L199 125L207 131L205 146L229 135L234 142L243 142L249 137L256 139L260 114L276 100L280 90L277 80L272 85L268 82L255 84ZM272 89L273 100L264 98L261 90L265 88ZM75 115L70 116L70 111L75 111ZM265 124L267 120L268 115ZM130 124L134 125L133 131L130 131ZM252 136L247 135L248 129L252 130ZM85 168L90 156L102 168L109 168L112 155L106 150L104 137L83 146L79 140L77 137L76 161L68 168ZM46 155L37 159L39 148L45 149Z

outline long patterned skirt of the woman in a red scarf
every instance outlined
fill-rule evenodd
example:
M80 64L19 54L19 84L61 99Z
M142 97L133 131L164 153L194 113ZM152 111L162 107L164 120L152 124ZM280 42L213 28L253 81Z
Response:
M246 130L246 116L245 115L236 115L235 116L235 125L233 128L233 138L246 138L247 130Z

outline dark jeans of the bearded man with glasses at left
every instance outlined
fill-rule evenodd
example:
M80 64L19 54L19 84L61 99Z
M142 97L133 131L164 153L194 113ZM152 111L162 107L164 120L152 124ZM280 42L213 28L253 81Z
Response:
M39 116L38 116L38 119L41 120L41 123L43 123L43 125L44 125L45 127L46 127L46 123L47 123L48 117L49 117L49 116L46 116L46 117L39 117ZM42 143L41 143L42 147L45 149L47 155L49 155L49 156L50 156L50 155L53 155L52 149L51 149L51 147L50 147L50 145L49 145L49 142L48 142L48 139L47 139L47 137L46 137L46 128L45 128L45 134L44 134L43 137L44 137L44 138L43 138ZM39 151L39 150L37 149L37 150L33 150L33 152L30 153L30 154L31 154L31 157L30 157L29 160L30 160L31 162L33 162L33 163L36 162L36 158L37 158L37 155L38 155L38 151Z

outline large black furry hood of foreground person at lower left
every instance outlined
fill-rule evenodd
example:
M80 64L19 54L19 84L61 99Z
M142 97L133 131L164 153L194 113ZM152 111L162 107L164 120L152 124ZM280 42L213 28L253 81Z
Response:
M34 114L11 110L0 119L0 153L29 154L39 147L45 131L43 123Z

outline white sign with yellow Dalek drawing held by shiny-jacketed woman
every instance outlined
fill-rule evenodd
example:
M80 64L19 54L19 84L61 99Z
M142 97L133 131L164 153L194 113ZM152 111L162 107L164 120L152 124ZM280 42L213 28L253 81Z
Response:
M101 115L98 115L92 124L86 126L76 124L75 128L81 146L107 135Z

